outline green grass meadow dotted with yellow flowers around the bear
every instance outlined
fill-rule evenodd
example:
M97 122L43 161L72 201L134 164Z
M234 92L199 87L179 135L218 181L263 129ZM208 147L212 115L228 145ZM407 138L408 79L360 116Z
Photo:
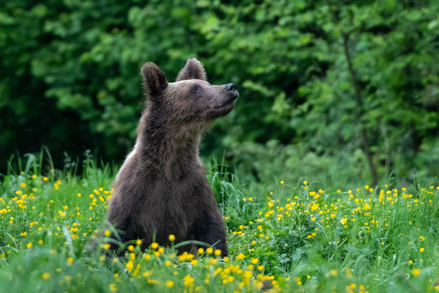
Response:
M104 221L117 168L89 157L79 177L79 162L66 159L64 170L47 162L45 172L43 155L11 158L0 175L2 292L439 291L431 184L338 191L280 181L264 190L214 160L207 178L229 231L228 259L135 244L112 259L83 247ZM264 280L273 288L260 289Z

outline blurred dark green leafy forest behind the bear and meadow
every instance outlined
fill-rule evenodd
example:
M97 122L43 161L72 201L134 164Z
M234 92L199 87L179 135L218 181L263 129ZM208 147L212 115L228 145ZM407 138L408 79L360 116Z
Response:
M346 188L438 174L437 0L3 1L0 173L42 145L58 168L86 149L122 163L141 65L171 82L193 57L210 83L237 84L202 156L244 180Z

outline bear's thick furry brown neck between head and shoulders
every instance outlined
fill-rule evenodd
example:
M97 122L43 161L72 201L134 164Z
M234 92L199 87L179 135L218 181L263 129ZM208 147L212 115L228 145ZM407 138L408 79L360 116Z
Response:
M145 166L168 179L184 176L199 157L202 127L172 123L164 111L145 109L137 129L138 151Z

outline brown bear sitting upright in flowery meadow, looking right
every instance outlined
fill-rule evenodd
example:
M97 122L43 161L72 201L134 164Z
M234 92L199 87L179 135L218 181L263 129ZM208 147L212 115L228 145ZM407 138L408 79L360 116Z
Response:
M206 180L199 157L202 134L213 120L229 113L238 97L233 83L212 85L200 61L188 59L175 83L148 62L143 76L146 107L137 140L113 184L108 221L120 240L142 239L142 250L154 240L169 245L197 240L227 256L223 217ZM112 250L119 246L112 244ZM179 253L195 246L179 248Z

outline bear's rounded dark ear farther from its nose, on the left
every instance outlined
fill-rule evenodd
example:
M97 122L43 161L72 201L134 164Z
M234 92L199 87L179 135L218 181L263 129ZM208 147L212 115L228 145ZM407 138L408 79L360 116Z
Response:
M162 70L152 62L145 63L140 69L145 95L157 97L168 86L168 81Z

